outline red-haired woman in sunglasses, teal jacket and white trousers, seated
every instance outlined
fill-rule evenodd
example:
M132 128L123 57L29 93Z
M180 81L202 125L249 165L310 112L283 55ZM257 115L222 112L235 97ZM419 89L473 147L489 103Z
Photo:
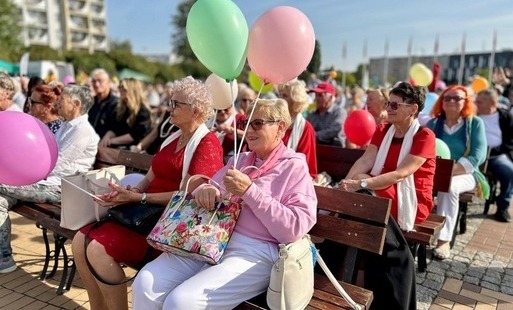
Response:
M449 242L456 226L460 193L473 190L478 184L488 187L479 171L487 153L485 127L475 114L476 107L468 89L454 85L442 92L432 109L434 118L427 123L436 137L449 146L451 159L456 161L450 191L437 196L437 213L445 216L445 225L434 250L438 259L446 259L451 254Z

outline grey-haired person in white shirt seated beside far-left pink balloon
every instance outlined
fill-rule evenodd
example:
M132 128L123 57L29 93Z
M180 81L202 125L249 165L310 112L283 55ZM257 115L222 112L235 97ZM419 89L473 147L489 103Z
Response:
M45 85L43 85L45 86ZM38 86L40 87L40 86ZM43 91L39 93L45 93ZM53 94L52 91L48 90ZM38 94L33 92L32 96ZM44 97L34 97L39 100ZM55 108L65 120L55 134L59 156L50 175L32 185L0 185L0 273L14 271L12 258L11 222L7 210L18 200L38 203L57 203L61 200L61 177L86 172L93 166L100 138L88 121L87 111L93 105L93 96L87 87L64 86ZM30 165L30 163L27 163Z

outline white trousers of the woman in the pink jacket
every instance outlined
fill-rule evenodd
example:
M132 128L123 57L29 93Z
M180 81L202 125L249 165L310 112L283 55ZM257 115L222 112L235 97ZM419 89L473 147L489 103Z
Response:
M232 309L267 289L276 244L233 233L218 265L163 253L132 285L134 310Z

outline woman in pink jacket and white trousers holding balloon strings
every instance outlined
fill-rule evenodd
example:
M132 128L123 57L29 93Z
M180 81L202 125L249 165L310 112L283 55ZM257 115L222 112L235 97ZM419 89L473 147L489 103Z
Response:
M267 289L278 244L299 240L316 221L305 157L282 142L290 122L285 100L256 102L246 135L251 151L215 174L221 190L203 185L193 192L203 208L227 194L241 204L223 258L212 266L161 254L134 281L134 309L232 309Z

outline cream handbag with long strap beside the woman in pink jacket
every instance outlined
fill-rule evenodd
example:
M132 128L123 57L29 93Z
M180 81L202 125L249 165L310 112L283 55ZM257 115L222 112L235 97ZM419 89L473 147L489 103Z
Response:
M319 263L339 294L353 309L360 310L361 306L351 299L326 266L309 235L289 244L280 244L279 258L273 265L267 288L269 308L300 310L308 306L314 292L315 261Z

